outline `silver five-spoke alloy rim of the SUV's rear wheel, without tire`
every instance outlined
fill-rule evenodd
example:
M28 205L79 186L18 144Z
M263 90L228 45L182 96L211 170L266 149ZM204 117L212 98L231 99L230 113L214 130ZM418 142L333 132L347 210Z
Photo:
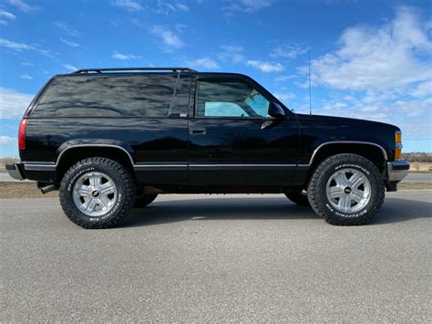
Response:
M107 214L116 204L117 186L102 172L87 172L74 185L74 203L83 214L98 217Z

